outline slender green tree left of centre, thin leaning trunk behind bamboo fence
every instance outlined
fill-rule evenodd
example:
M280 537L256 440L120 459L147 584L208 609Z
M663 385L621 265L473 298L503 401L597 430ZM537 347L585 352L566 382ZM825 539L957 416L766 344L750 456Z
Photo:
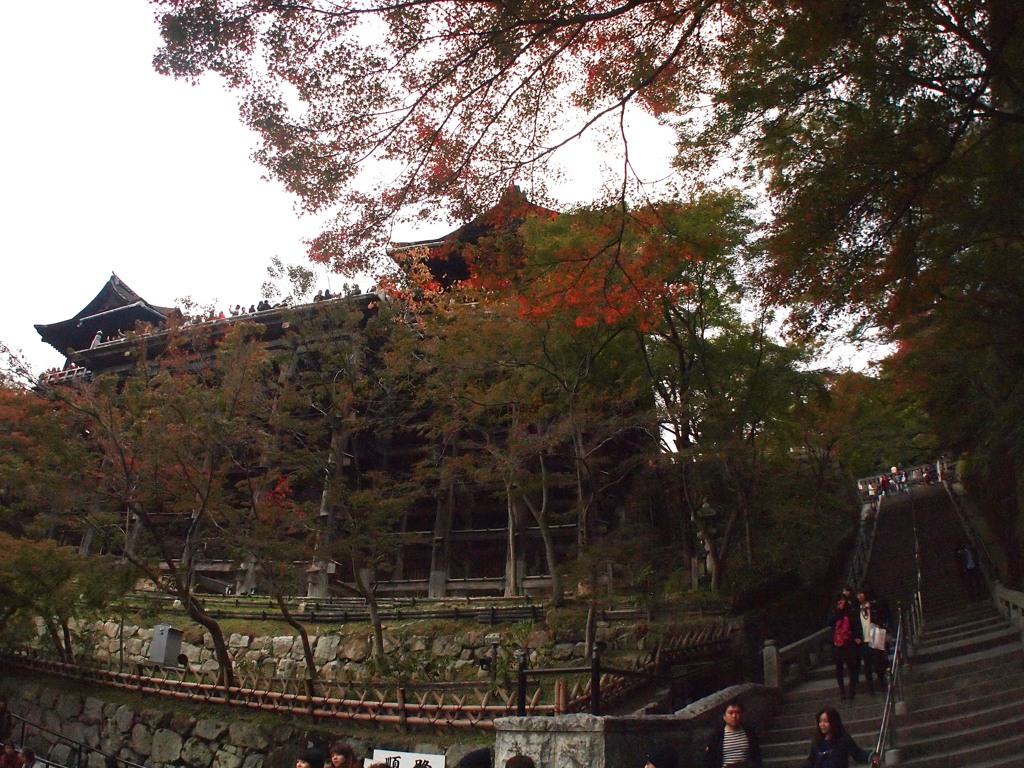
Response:
M332 302L303 321L302 346L285 384L279 434L288 460L319 489L311 510L313 589L332 584L361 597L373 628L372 651L384 659L378 579L393 571L406 515L417 488L399 457L415 444L418 414L410 389L415 343L388 303ZM404 343L403 343L404 341Z

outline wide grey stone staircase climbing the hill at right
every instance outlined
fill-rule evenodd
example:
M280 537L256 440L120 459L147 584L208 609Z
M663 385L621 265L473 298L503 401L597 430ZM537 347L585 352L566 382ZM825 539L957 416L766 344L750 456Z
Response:
M959 522L941 486L889 497L866 583L895 609L915 585L913 522L921 545L924 631L903 668L895 741L887 765L911 768L1024 768L1024 657L1021 632L987 600L972 600L953 552ZM806 762L815 713L836 707L858 745L873 750L885 696L859 688L841 701L830 663L786 691L762 735L765 766ZM896 748L898 752L891 750Z

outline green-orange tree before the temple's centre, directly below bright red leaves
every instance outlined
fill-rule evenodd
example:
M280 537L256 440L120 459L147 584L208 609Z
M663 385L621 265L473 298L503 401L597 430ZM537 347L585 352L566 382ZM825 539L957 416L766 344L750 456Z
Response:
M638 383L622 365L629 345L622 329L577 326L574 312L537 322L513 294L458 296L424 321L418 390L438 446L424 472L439 457L445 486L495 488L508 510L509 595L521 594L532 519L560 604L565 543L556 544L554 526L572 521L578 554L587 549L596 518L606 525L611 517L595 509L614 505L631 471L632 431L647 425L635 407Z

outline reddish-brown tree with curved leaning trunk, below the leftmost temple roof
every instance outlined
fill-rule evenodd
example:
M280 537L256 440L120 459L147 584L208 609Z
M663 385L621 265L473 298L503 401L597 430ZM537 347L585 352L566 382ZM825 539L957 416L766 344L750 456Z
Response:
M254 333L237 324L215 341L199 329L172 331L155 355L147 344L161 338L142 336L133 371L54 390L86 425L104 506L125 515L120 553L210 633L225 685L234 680L231 657L197 597L197 564L223 555L220 530L237 504L231 479L254 473L263 458L258 418L272 372Z

